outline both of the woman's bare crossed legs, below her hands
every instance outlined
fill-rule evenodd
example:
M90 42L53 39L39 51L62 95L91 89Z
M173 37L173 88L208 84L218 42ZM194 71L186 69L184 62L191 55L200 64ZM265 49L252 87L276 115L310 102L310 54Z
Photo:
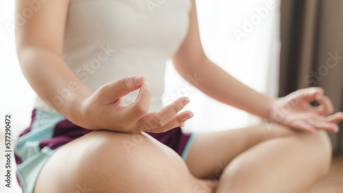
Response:
M145 133L93 131L49 158L34 193L302 192L324 175L330 155L326 133L279 125L198 134L186 164Z

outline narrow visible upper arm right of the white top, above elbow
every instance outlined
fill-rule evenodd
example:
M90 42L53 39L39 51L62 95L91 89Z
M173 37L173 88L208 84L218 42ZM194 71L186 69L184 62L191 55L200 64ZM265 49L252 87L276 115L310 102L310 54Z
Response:
M198 64L198 62L204 60L206 57L200 41L198 17L196 13L196 0L191 1L192 9L189 13L190 22L187 37L181 44L180 49L172 58L174 66L179 72L180 70Z

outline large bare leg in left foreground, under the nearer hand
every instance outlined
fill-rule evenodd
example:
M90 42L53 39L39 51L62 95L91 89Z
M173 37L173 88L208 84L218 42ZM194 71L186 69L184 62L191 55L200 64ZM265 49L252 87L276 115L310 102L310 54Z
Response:
M195 192L199 183L180 156L145 133L93 131L49 158L34 193Z

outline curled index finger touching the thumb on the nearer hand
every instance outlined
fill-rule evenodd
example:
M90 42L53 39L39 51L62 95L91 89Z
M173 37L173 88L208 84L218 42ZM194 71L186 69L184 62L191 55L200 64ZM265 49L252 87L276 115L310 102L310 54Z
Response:
M136 101L126 107L121 107L120 118L127 123L136 123L147 114L150 107L151 93L147 83L144 83L139 90Z

